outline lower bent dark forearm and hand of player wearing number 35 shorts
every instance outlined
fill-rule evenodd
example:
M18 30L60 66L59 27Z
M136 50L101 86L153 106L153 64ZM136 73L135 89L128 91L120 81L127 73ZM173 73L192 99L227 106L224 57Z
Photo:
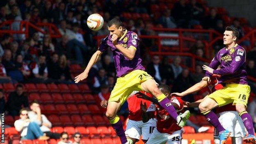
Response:
M140 101L140 110L142 110L142 122L146 123L149 121L149 119L154 117L156 107L153 103L151 103L149 108L146 109L146 103L143 104L142 101Z

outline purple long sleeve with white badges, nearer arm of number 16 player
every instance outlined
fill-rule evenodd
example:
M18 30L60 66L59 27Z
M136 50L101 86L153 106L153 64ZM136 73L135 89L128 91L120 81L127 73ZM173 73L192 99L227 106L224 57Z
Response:
M214 70L213 73L217 75L233 74L245 63L245 50L239 48L234 52L231 63L224 69Z

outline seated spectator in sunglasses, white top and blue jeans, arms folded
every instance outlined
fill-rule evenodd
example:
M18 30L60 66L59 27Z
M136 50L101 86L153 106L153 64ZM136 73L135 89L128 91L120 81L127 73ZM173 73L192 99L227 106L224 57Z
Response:
M20 119L14 122L14 127L18 132L21 133L21 139L49 139L49 137L43 135L43 132L40 130L37 123L30 122L30 119L27 117L27 110L25 109L21 109Z

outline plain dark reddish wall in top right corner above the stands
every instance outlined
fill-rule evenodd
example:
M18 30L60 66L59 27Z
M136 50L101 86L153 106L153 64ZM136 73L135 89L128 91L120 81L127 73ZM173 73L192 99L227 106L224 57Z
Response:
M255 0L206 0L210 7L224 7L231 17L245 17L252 27L256 26Z

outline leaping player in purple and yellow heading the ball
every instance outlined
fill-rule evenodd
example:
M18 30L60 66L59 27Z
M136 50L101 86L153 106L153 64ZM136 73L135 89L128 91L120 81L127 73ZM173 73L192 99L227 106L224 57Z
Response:
M78 83L80 80L86 79L91 66L110 47L117 71L117 83L108 100L106 116L119 136L121 143L130 144L131 140L129 139L128 142L126 139L117 111L134 90L143 90L153 94L160 105L176 120L178 126L183 127L190 112L186 111L178 116L174 107L169 105L169 99L156 86L155 80L144 71L145 68L141 64L142 59L139 57L139 37L137 34L126 30L123 27L123 23L116 18L109 21L107 25L110 34L101 41L98 50L92 55L85 71L75 77L75 82Z

